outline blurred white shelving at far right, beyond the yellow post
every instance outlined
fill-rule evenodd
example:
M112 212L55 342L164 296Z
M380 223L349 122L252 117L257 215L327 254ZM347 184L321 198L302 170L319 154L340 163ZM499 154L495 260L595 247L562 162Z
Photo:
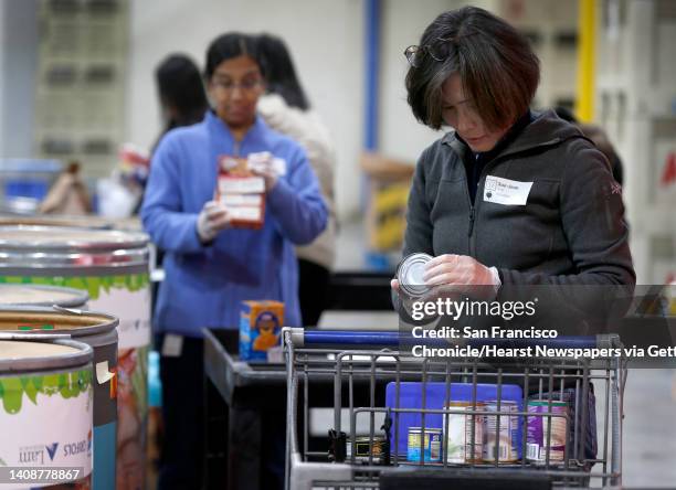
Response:
M604 0L598 15L596 120L624 164L640 284L676 279L676 1Z

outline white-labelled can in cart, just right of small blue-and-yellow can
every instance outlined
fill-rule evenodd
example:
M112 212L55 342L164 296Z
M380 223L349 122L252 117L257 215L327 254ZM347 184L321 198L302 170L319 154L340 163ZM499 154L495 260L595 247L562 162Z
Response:
M476 405L476 408L474 408ZM482 402L448 402L446 408L462 411L484 411ZM447 414L446 461L479 462L484 447L484 416L472 414ZM472 430L474 426L474 450L472 449Z

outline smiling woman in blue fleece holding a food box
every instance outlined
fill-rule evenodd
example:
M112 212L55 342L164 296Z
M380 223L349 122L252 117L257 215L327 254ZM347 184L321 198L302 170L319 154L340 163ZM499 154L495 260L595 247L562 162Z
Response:
M285 324L300 326L295 245L310 243L327 211L305 151L256 114L265 72L255 39L215 39L207 51L212 109L193 126L169 131L152 157L141 209L144 226L166 251L154 324L160 334L166 440L159 488L201 488L202 333L236 329L243 300L285 303ZM260 230L233 227L214 201L219 161L268 152L278 167L256 166L265 181Z

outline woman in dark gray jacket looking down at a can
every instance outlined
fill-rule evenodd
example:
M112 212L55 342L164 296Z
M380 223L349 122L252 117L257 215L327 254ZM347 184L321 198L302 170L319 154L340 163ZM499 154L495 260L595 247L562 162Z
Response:
M529 109L540 71L528 40L466 7L439 15L404 54L413 115L452 129L422 152L408 204L403 253L433 257L422 276L429 297L532 301L537 291L529 324L585 328L587 315L609 307L598 294L635 284L622 194L578 128ZM494 318L461 319L484 320ZM593 395L589 403L593 458Z

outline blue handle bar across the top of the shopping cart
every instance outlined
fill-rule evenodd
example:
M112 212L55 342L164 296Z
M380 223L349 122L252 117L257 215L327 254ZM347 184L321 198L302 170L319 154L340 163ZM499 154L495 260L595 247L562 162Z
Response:
M292 342L296 347L306 345L379 345L400 347L412 344L448 345L444 339L420 339L402 335L392 331L369 330L305 330L302 328L285 328L291 332ZM559 337L556 339L472 339L471 345L500 345L519 348L528 345L545 345L549 348L603 349L616 345L617 335L584 335Z

